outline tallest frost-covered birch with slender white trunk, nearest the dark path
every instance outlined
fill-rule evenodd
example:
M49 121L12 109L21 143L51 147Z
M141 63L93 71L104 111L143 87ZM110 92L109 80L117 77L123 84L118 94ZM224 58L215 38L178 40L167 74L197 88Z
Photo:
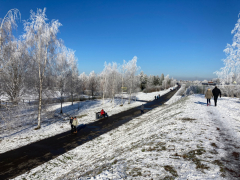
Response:
M31 59L35 61L38 69L38 126L41 127L41 109L42 109L42 91L45 72L51 69L54 61L55 47L58 44L57 33L61 24L58 20L47 22L46 8L37 9L37 12L30 12L30 19L24 22L25 33L23 35L29 51L31 51Z

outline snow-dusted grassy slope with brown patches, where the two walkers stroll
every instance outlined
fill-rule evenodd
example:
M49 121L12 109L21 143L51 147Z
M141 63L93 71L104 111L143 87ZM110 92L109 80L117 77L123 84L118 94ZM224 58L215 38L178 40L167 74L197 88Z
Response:
M239 109L237 98L181 98L15 179L239 179Z

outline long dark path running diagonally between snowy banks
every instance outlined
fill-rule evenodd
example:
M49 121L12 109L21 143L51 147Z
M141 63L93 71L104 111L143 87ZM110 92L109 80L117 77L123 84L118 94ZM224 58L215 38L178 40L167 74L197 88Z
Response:
M176 88L170 91L158 100L146 103L144 105L144 112L161 106L168 101L178 89L179 88ZM19 176L138 116L141 116L140 106L87 124L85 127L79 127L77 134L71 134L69 130L68 132L0 154L0 179L10 179Z

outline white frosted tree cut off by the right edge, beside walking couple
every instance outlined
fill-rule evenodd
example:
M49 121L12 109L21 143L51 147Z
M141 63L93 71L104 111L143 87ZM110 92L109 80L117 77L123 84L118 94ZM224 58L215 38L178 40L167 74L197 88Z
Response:
M223 60L224 67L220 71L214 72L220 81L226 83L232 83L236 81L240 83L240 13L238 15L238 21L235 24L234 29L231 31L233 36L233 43L227 44L224 52L227 58Z

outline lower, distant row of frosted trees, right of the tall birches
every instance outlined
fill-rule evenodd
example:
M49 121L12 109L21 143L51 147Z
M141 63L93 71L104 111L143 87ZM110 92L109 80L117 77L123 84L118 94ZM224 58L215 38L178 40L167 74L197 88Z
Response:
M112 98L114 103L114 97L116 94L121 94L123 99L123 93L129 94L128 102L131 102L132 94L143 90L145 92L156 91L160 89L167 89L170 86L176 84L175 79L170 79L169 75L164 77L164 74L159 76L148 76L141 71L137 72L140 67L137 66L137 57L134 56L132 60L123 61L122 64L106 63L104 64L103 71L97 75L93 72L87 76L85 73L80 74L78 82L80 83L79 92L89 90L91 96L102 96L104 103L105 97Z

